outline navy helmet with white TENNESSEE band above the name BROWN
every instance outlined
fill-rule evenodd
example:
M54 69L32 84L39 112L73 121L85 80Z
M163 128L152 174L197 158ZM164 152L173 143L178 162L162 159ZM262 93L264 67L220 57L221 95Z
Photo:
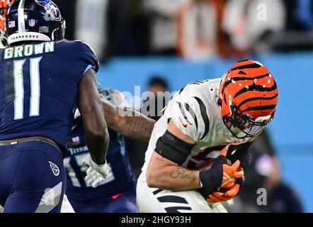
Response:
M6 16L8 45L64 39L65 21L50 0L16 0Z

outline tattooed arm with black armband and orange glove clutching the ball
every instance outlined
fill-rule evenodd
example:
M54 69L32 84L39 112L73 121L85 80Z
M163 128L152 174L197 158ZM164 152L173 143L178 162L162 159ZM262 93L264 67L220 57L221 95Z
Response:
M200 189L200 193L207 197L223 184L234 184L224 179L224 173L230 177L243 177L241 172L237 172L240 162L225 165L227 158L224 155L217 157L210 170L200 172L181 167L193 145L195 141L182 133L171 119L150 159L146 175L148 186L176 191Z

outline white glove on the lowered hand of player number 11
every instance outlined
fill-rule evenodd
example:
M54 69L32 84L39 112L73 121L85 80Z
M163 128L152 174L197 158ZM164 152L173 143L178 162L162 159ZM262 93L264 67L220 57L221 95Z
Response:
M108 165L98 165L96 162L93 162L90 155L86 156L82 162L82 164L86 164L89 166L86 171L87 175L85 177L87 184L96 188L99 184L104 182L104 180L108 177Z

